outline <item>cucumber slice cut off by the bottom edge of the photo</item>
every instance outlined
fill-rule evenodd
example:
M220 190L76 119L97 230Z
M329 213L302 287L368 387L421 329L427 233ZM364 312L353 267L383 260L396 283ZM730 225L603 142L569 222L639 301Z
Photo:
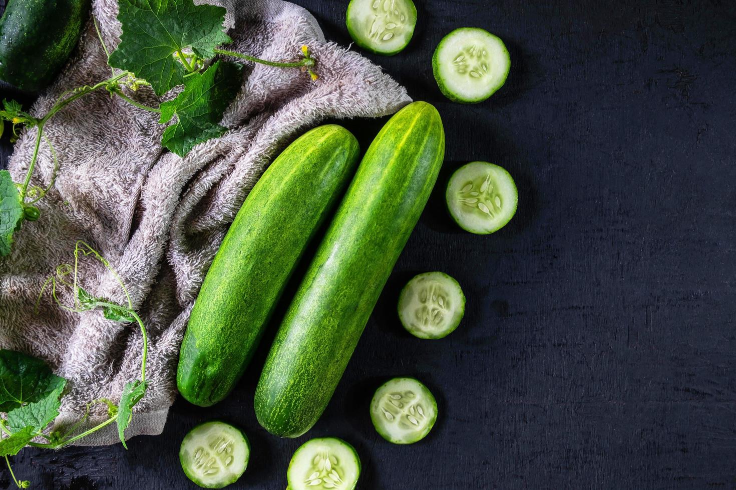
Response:
M360 475L361 460L355 448L342 439L324 437L297 449L286 480L290 490L353 490Z

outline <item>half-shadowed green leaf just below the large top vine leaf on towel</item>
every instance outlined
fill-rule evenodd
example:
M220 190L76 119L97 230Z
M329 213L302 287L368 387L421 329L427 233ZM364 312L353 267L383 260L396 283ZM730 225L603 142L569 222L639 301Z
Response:
M241 84L241 65L218 61L205 71L186 79L182 93L161 104L160 123L176 116L177 123L163 131L163 145L185 156L194 145L221 136L227 128L219 125Z

